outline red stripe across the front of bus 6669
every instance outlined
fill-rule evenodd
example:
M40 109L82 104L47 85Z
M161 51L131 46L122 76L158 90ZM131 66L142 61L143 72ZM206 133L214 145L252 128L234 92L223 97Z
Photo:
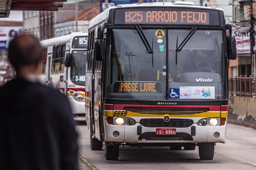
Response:
M209 111L220 111L220 106L212 105L123 105L114 104L114 110L124 110L124 107L152 107L152 108L209 108Z

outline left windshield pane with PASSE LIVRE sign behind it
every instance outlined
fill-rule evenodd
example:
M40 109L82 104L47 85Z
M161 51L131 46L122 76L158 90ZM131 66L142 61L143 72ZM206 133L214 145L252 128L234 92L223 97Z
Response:
M110 98L165 99L165 36L161 43L157 30L143 30L153 54L148 54L136 29L110 31L107 95ZM161 31L159 34L164 35Z

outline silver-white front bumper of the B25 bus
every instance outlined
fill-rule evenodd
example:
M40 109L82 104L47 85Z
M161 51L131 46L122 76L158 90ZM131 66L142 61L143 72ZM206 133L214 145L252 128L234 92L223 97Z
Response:
M156 135L156 128L144 127L139 123L135 125L110 125L105 123L105 142L113 143L225 143L226 124L222 126L199 126L196 123L186 128L176 128L176 135ZM138 126L141 132L138 133ZM195 127L195 134L191 128ZM139 129L140 129L139 127ZM118 136L115 137L118 132ZM216 132L219 136L216 138ZM139 135L138 135L139 134ZM215 137L214 137L215 134Z

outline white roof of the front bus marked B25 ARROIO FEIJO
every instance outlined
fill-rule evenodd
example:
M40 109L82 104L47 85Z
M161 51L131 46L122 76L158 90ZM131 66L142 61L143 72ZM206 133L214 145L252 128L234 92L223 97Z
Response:
M222 11L222 8L216 8L215 6L212 7L202 7L202 6L195 6L193 3L188 1L175 1L174 3L142 3L142 4L120 4L114 7L108 7L105 9L105 11L101 12L99 15L95 16L93 19L91 19L89 29L94 27L95 25L106 21L109 16L109 11L112 9L122 9L122 8L150 8L150 7L183 7L183 8L193 8L193 9L212 9L217 11Z

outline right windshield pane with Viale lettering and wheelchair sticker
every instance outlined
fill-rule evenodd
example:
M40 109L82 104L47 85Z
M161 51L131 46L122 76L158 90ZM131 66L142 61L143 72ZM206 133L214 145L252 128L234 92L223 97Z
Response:
M223 31L196 30L176 60L177 36L180 44L188 32L168 30L169 99L226 99Z

